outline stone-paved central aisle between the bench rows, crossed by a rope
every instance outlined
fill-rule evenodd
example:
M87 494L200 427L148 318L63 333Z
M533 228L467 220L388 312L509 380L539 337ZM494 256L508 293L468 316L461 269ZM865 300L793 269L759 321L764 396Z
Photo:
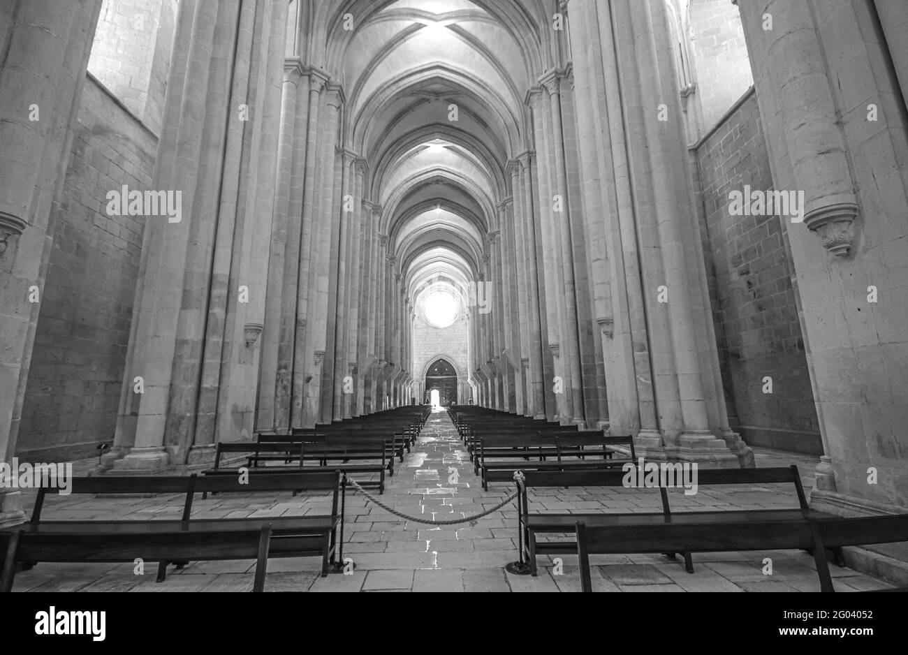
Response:
M410 516L451 520L494 507L513 491L513 484L482 491L457 429L442 410L429 416L378 498ZM348 492L346 526L344 557L355 562L356 573L332 575L314 587L361 583L363 591L508 591L503 567L518 556L514 503L475 525L432 526L400 519L354 490Z

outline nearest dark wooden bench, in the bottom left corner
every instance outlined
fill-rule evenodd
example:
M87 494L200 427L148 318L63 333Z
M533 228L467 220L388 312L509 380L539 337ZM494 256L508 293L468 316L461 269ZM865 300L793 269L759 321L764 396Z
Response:
M0 592L13 590L17 562L134 562L137 557L150 562L254 559L252 591L264 591L270 524L236 524L199 532L187 531L183 525L134 523L107 523L105 529L90 533L82 530L81 523L67 526L66 531L0 533Z

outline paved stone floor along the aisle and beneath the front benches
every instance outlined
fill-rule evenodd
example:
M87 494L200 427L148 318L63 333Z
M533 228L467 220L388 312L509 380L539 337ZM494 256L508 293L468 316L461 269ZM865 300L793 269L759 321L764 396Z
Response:
M804 487L813 486L815 460L777 451L758 450L758 466L798 464ZM76 473L90 463L81 463ZM452 477L457 470L458 479ZM794 489L786 485L725 487L721 492L700 490L693 496L676 494L673 507L691 510L733 510L795 507ZM435 519L462 518L494 507L512 491L509 484L483 492L469 456L445 413L433 414L419 443L396 469L380 499L400 512ZM540 490L530 496L531 509L561 512L655 512L657 494L627 489L572 488ZM194 503L200 518L281 516L322 513L325 496L291 497L280 494L229 494ZM48 497L48 519L178 518L177 496L141 498ZM517 559L516 506L469 523L431 527L399 520L350 492L347 498L344 557L355 562L352 574L321 578L318 558L272 559L266 591L579 591L577 557L565 555L563 566L551 557L539 558L538 577L512 575L504 565ZM764 574L771 558L772 574ZM804 552L715 552L696 554L696 572L661 555L599 555L594 564L597 591L819 591L813 558ZM545 566L543 567L543 564ZM155 583L156 564L144 575L133 564L42 563L15 578L15 591L248 591L253 562L192 562L182 571L171 567L168 579ZM559 572L557 569L560 568ZM831 566L836 591L882 589L889 585L849 569Z

